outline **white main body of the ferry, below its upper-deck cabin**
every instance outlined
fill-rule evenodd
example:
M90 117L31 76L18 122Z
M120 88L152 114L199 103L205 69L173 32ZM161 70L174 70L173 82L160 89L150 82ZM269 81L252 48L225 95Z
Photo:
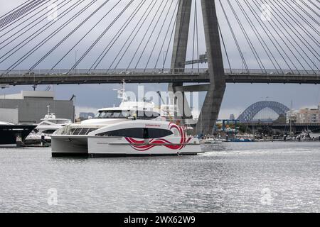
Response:
M88 135L58 135L58 131L52 137L52 153L53 156L196 155L202 153L198 139L186 135L185 131L185 127L174 123L145 121L118 123L99 128Z

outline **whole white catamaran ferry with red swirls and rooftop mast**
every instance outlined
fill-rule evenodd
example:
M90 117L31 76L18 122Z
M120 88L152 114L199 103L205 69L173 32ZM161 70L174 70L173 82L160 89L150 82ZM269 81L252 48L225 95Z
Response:
M148 101L129 101L118 90L119 107L98 110L95 118L60 128L51 136L53 156L196 155L202 153L193 128L169 121Z

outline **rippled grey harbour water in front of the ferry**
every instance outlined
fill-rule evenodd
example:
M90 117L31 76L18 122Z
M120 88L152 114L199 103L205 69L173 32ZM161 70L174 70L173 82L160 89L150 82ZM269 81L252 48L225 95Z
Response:
M198 156L69 158L51 157L50 148L0 148L0 211L320 211L320 143L205 149Z

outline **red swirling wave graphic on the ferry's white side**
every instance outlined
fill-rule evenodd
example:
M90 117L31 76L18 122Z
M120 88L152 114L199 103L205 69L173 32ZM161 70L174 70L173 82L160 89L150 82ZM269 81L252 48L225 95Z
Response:
M136 140L134 138L128 138L126 137L125 139L130 143L132 148L134 150L138 151L146 151L150 150L151 148L154 148L155 146L159 145L164 145L166 148L169 148L171 150L181 150L182 148L186 147L186 144L190 142L191 136L187 138L186 133L184 130L186 129L185 127L179 127L175 123L169 123L169 130L171 131L172 128L176 128L181 136L180 142L178 144L176 143L171 143L168 140L162 139L162 138L157 138L157 139L151 139L149 140L149 143L146 144L144 140Z

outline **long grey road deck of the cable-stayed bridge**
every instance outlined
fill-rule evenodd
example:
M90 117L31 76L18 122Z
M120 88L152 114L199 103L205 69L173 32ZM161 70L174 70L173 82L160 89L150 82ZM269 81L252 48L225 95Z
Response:
M198 70L197 70L198 71ZM48 70L38 70L28 73L27 70L13 71L10 74L0 72L0 84L27 85L27 84L116 84L125 79L127 83L208 83L209 76L206 69L200 72L186 70L117 70L113 72L91 72L87 70L77 70L67 74L68 70L55 70L53 73L46 73ZM174 72L174 73L173 73ZM240 72L240 70L225 70L225 81L227 83L282 83L282 84L320 84L320 73L316 74L293 74L283 72L276 74L274 71Z

